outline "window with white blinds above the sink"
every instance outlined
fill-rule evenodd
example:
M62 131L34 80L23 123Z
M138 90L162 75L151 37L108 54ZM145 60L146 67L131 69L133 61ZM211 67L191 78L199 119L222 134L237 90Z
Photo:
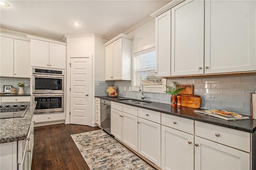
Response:
M143 83L144 88L162 88L162 78L156 77L155 47L134 53L133 87Z

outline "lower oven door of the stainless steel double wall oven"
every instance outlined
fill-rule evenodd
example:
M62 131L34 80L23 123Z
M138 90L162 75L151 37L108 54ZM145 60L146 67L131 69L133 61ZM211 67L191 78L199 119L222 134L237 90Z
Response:
M33 94L36 101L34 113L49 113L64 111L64 94Z

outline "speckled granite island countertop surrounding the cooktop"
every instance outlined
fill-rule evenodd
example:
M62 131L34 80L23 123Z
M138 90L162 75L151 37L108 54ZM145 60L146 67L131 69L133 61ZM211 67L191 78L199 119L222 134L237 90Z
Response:
M1 105L12 102L2 102ZM13 102L18 104L29 104L29 109L24 117L0 119L0 143L14 142L26 139L31 120L34 115L36 102Z

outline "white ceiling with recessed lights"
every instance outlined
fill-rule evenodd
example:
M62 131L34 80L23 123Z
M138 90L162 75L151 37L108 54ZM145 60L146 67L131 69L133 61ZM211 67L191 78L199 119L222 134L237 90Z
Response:
M69 34L100 34L109 39L125 32L170 0L6 0L0 27L54 40ZM79 22L81 27L74 27Z

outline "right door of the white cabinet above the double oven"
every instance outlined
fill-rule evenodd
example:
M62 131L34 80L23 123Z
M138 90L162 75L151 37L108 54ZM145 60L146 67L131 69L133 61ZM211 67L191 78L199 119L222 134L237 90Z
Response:
M65 69L66 66L66 45L49 43L49 66L50 68Z

